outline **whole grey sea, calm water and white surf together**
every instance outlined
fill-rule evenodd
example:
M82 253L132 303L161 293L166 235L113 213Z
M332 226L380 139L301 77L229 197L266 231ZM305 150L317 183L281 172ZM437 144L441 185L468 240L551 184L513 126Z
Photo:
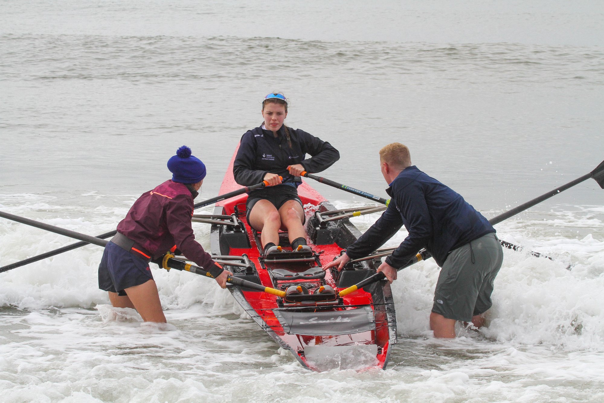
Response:
M377 151L399 141L491 218L604 159L603 14L590 1L1 2L0 210L111 231L182 144L208 166L198 201L213 197L280 90L286 122L341 152L325 177L385 197ZM310 185L336 208L370 204ZM439 268L399 272L385 371L309 372L228 291L176 270L154 269L169 324L147 326L98 290L97 246L10 270L2 400L601 401L603 192L590 179L496 226L524 249L504 251L480 332L434 339ZM209 249L208 226L194 229ZM1 219L0 265L70 242Z

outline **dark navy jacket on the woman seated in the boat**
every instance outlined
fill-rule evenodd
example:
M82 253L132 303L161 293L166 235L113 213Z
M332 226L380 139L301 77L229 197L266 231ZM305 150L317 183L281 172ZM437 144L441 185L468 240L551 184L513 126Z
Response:
M301 164L307 172L321 172L339 160L339 152L330 143L300 129L288 128L292 140L289 147L285 125L275 137L270 130L257 127L241 137L239 151L233 162L235 182L243 186L256 185L268 172L283 177L284 183L301 183L300 177L289 174L288 166ZM312 158L306 159L306 154Z

